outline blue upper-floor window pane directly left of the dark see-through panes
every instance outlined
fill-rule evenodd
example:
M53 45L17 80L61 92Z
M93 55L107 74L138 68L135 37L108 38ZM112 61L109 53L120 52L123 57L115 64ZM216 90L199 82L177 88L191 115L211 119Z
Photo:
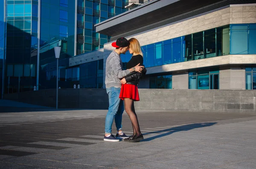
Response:
M172 39L172 63L181 61L181 37Z

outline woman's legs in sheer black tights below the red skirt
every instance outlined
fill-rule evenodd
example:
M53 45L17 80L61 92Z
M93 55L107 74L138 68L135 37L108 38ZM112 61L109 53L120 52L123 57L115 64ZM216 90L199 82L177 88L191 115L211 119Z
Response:
M137 115L135 113L135 108L134 108L134 100L131 100L129 98L125 98L125 111L130 117L132 128L133 128L133 135L140 135L140 126L138 122Z

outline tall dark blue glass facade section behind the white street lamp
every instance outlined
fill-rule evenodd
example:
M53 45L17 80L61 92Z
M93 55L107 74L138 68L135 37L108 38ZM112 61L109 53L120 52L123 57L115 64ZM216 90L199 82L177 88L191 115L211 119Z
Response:
M41 0L39 89L56 87L54 46L61 46L59 86L68 86L65 70L75 54L75 16L74 0Z

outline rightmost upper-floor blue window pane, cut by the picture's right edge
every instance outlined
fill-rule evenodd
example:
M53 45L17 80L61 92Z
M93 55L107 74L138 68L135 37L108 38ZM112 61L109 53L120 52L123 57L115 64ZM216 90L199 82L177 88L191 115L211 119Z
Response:
M249 54L256 54L256 24L249 24Z

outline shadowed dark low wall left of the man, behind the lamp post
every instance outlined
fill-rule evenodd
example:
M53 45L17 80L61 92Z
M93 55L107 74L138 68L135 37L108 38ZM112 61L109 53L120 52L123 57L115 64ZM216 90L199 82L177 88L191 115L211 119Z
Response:
M6 94L3 99L40 106L56 107L56 89ZM108 109L106 89L59 89L58 107L73 109Z

